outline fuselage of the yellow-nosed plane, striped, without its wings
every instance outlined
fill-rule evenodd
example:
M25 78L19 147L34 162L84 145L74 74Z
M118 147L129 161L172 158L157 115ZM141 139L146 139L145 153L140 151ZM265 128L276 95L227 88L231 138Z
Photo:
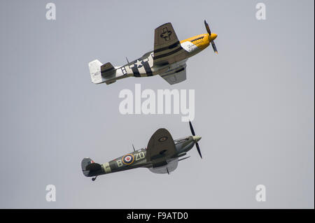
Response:
M148 77L157 74L161 75L162 78L167 78L167 75L172 75L186 69L187 59L207 48L216 36L216 34L211 34L211 36L209 34L193 36L169 45L167 48L146 52L139 59L124 66L113 67L108 63L110 68L103 71L102 69L98 69L100 66L102 68L102 64L94 60L89 64L92 82L95 84L106 82L109 85L122 78L131 76L136 78ZM170 57L171 55L172 57ZM168 57L167 62L154 63L154 60L157 61L164 57Z

